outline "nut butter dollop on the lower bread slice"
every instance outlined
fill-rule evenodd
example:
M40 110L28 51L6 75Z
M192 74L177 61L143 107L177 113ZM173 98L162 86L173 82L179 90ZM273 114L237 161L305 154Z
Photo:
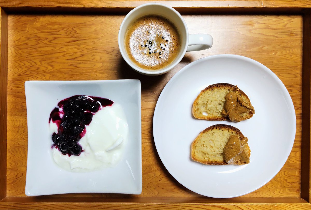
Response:
M224 159L226 163L234 165L238 163L249 163L249 157L244 150L248 138L240 140L239 136L231 135L224 148Z

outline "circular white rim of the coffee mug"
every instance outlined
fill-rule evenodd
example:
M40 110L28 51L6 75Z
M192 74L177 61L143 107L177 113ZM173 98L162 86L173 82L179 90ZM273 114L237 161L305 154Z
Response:
M177 57L172 63L174 65L172 65L171 67L165 67L163 69L159 69L159 70L146 70L146 69L138 69L137 66L133 65L131 61L129 61L129 59L127 59L125 57L125 54L126 52L123 51L120 47L120 45L124 45L124 41L123 43L120 43L121 42L121 34L120 34L120 31L121 29L124 27L124 22L125 20L128 19L129 16L131 16L135 11L137 11L138 9L142 8L142 7L146 7L146 6L150 6L150 5L157 5L157 6L162 6L162 7L166 7L168 8L169 10L173 11L179 18L180 20L182 21L183 23L183 26L185 28L185 32L186 32L186 43L185 43L185 48L183 50L183 52L179 55L179 57ZM188 32L188 27L187 27L187 24L185 22L185 20L183 20L183 17L180 15L180 13L175 10L173 7L170 7L168 5L165 5L165 4L162 4L162 3L146 3L146 4L142 4L142 5L139 5L138 7L135 7L134 9L132 9L123 19L121 25L120 25L120 28L119 28L119 31L118 31L118 45L119 45L119 50L120 50L120 53L123 57L123 59L125 60L125 62L132 68L134 69L135 71L139 72L139 73L142 73L142 74L145 74L145 75L160 75L160 74L164 74L168 71L170 71L171 69L173 69L179 62L180 60L183 58L183 56L185 55L186 51L187 51L187 47L188 47L188 38L189 37L189 32ZM124 37L123 37L124 39Z

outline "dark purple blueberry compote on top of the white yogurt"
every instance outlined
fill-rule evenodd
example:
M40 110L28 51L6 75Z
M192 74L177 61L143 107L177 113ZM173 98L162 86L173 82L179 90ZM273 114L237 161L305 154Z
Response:
M85 126L92 121L93 114L114 102L95 96L71 96L58 103L50 114L49 123L56 123L58 132L52 134L53 146L62 154L79 155L83 152L78 144L86 133Z

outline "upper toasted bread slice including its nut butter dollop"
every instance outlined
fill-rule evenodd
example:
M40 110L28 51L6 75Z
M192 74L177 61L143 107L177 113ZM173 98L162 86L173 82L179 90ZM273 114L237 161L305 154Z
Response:
M229 83L217 83L206 87L193 102L192 114L206 120L240 122L255 114L248 96Z

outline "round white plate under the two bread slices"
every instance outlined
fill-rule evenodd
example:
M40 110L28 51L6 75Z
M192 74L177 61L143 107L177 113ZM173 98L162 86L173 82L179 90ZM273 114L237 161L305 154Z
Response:
M237 85L256 114L239 123L192 116L192 104L205 87ZM190 158L190 145L205 128L229 124L248 137L250 163L204 165ZM266 66L247 57L216 55L185 66L164 87L153 117L158 154L169 173L189 190L214 198L232 198L257 190L280 171L293 147L296 117L281 80Z

